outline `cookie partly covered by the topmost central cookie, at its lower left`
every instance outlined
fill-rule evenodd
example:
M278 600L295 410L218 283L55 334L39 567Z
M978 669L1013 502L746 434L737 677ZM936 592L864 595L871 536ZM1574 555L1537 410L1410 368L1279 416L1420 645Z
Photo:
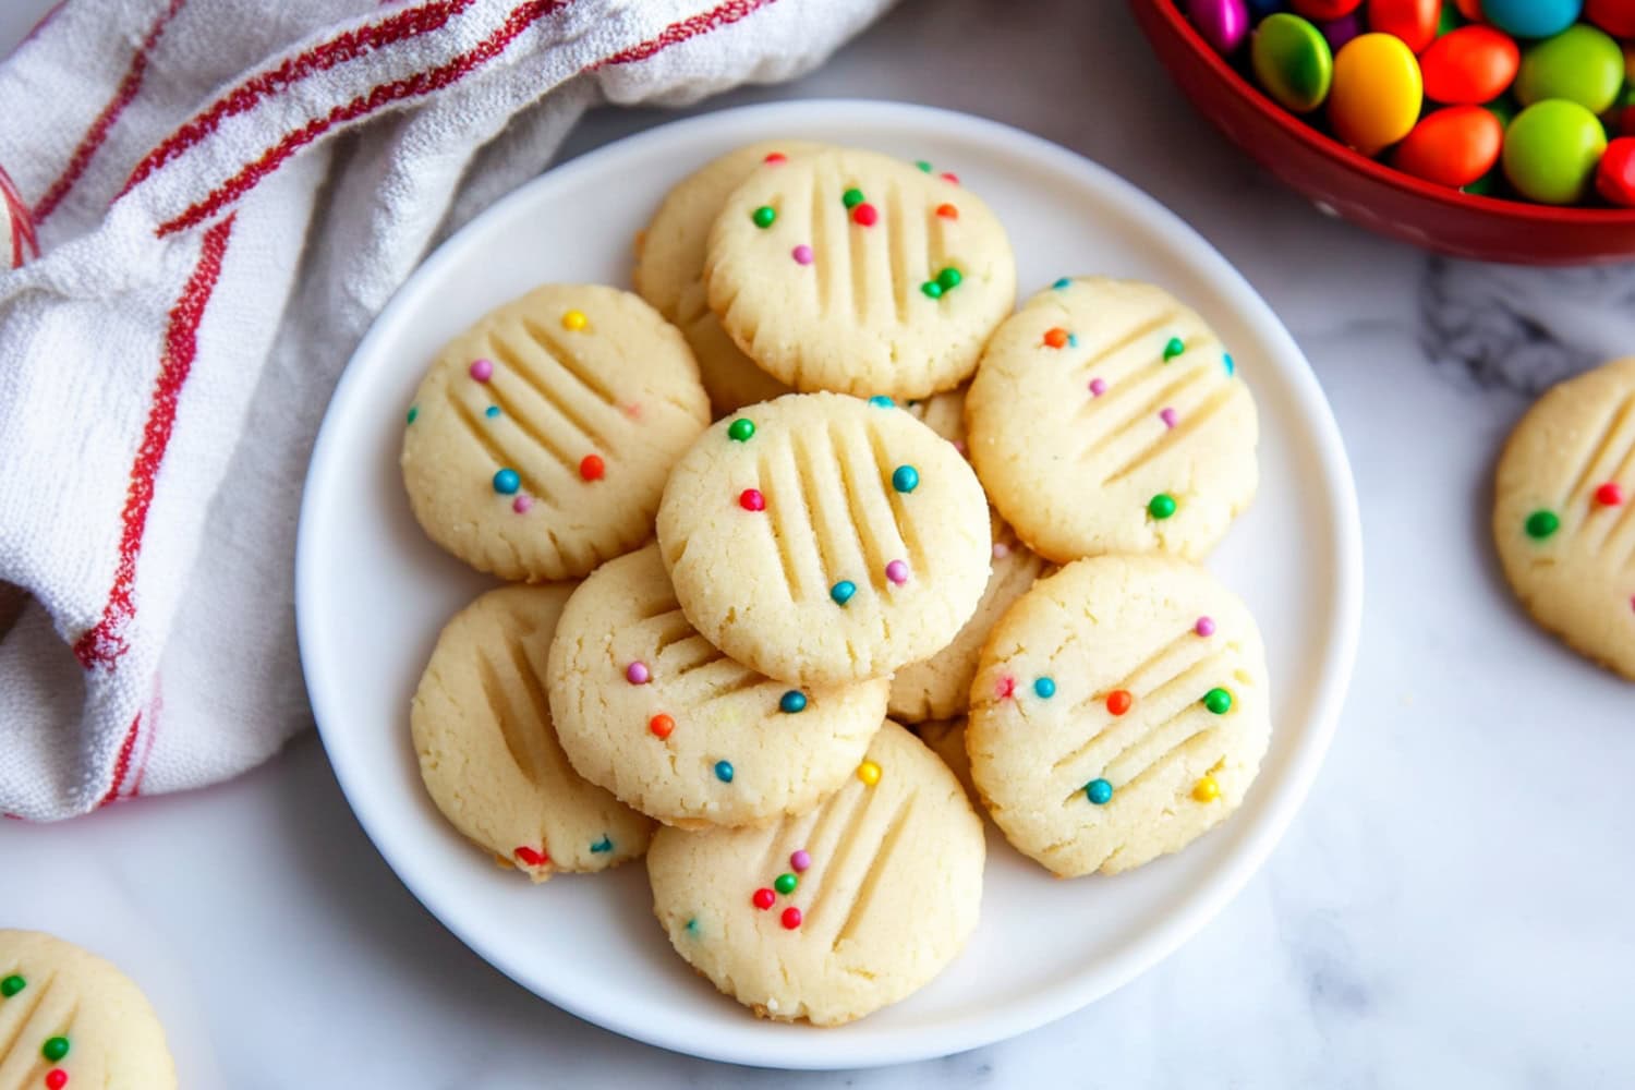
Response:
M809 811L863 758L888 686L791 688L732 662L687 623L657 546L598 567L551 644L551 717L574 768L683 829Z

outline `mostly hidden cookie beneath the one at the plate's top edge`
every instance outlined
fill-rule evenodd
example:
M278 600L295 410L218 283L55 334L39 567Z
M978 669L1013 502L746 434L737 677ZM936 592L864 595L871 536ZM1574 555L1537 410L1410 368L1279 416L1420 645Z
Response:
M790 387L739 351L710 309L705 291L710 227L726 198L749 176L782 170L790 159L822 147L808 141L762 141L713 159L665 194L641 234L636 293L687 337L718 417L788 394Z

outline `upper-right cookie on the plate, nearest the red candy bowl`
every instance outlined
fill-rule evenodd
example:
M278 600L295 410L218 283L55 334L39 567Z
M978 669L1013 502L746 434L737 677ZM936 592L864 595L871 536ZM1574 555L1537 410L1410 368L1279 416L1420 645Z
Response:
M1202 559L1254 498L1249 387L1203 319L1153 284L1038 293L994 333L965 405L994 507L1058 564Z

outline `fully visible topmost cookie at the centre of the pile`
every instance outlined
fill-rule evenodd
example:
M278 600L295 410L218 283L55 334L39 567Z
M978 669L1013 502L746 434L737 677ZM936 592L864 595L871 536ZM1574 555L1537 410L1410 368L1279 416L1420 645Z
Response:
M659 508L705 639L783 681L891 673L976 610L992 543L976 474L888 399L788 394L721 420Z

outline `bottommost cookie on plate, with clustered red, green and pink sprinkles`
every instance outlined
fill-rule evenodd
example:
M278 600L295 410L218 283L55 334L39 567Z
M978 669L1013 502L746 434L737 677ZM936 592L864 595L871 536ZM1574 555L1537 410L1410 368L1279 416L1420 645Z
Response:
M965 948L983 822L888 722L844 788L768 829L661 829L652 907L675 951L762 1018L832 1026L894 1003Z

